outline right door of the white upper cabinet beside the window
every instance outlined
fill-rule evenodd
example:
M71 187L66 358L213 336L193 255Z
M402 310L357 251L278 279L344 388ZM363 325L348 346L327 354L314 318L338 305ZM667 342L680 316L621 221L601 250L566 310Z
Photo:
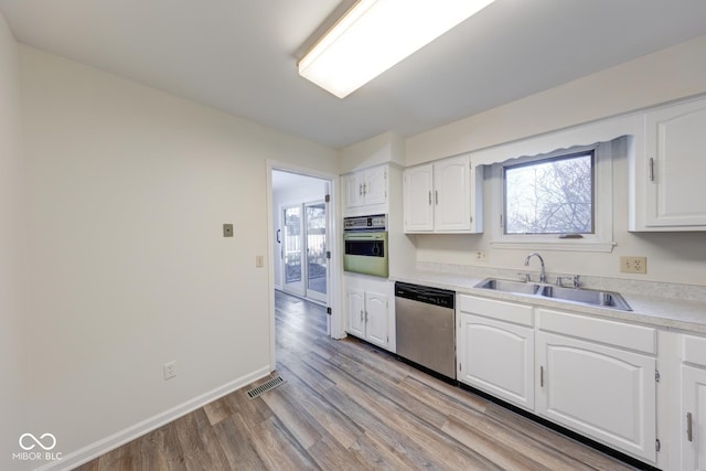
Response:
M471 229L469 162L468 157L459 157L434 164L435 231Z

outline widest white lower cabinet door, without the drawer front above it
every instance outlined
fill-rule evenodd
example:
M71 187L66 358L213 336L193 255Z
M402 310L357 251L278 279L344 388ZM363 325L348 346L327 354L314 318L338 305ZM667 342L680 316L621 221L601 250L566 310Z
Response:
M544 332L536 345L539 415L655 461L654 357Z

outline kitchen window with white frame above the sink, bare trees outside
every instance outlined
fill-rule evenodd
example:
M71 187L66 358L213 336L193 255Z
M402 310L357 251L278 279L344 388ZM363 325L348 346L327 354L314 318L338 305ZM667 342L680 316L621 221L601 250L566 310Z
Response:
M524 156L491 167L499 248L611 251L612 160L627 138Z

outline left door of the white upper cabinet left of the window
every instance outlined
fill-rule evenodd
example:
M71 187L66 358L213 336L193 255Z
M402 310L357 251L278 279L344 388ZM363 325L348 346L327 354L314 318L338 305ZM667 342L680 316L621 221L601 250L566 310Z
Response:
M405 232L434 231L434 167L421 165L404 172Z

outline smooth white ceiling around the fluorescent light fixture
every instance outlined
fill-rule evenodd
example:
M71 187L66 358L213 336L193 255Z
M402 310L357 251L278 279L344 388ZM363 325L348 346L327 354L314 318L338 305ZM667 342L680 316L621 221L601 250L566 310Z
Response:
M333 148L419 133L706 34L702 0L496 0L341 100L296 67L340 3L0 0L0 11L21 43Z

